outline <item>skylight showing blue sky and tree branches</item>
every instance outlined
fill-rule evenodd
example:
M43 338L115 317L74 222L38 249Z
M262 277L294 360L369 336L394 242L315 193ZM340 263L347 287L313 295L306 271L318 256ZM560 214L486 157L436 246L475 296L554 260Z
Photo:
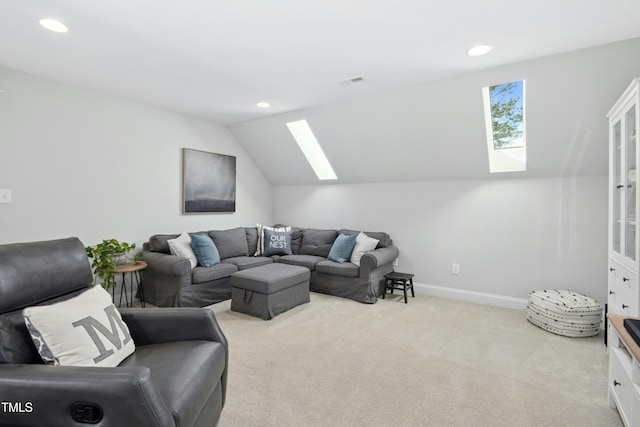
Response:
M527 170L524 80L482 88L489 170Z

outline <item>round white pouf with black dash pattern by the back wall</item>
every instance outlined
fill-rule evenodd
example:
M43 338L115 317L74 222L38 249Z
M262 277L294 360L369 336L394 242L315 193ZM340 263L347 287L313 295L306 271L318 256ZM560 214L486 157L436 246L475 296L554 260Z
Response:
M554 334L567 337L598 335L602 306L578 293L545 289L529 294L527 320Z

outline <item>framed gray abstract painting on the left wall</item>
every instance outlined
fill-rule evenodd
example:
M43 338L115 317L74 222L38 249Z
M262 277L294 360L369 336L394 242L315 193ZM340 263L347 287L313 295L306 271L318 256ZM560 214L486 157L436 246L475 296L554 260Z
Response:
M236 158L182 149L183 213L236 211Z

